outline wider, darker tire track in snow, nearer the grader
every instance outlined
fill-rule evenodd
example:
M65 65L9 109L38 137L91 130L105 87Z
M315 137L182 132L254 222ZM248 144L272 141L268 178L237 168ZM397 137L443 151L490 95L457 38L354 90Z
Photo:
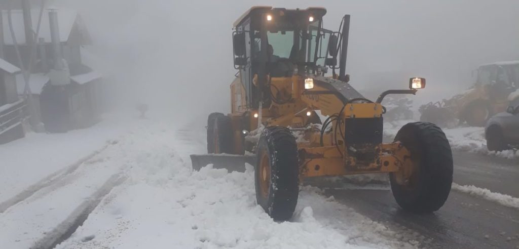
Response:
M88 200L81 203L61 224L47 233L42 239L36 241L31 247L33 249L50 249L56 245L69 239L78 227L83 225L90 213L99 205L103 198L112 191L112 189L124 183L128 176L123 173L112 175L108 180L95 191Z

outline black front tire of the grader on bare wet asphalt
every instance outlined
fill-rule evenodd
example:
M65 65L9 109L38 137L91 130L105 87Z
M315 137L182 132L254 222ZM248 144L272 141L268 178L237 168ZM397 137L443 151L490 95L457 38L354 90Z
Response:
M433 123L407 123L394 141L409 150L414 164L405 184L398 183L397 173L389 174L394 199L402 209L413 213L439 210L453 181L453 157L445 133Z

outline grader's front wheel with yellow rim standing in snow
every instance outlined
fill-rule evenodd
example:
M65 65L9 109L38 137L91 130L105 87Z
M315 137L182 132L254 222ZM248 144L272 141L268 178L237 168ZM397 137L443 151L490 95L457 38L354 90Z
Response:
M285 127L267 127L257 144L256 201L274 220L292 217L299 195L297 145Z

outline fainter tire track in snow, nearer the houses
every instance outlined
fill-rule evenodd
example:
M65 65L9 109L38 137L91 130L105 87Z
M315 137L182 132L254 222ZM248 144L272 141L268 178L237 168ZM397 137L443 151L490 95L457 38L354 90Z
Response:
M109 145L110 144L107 144L107 145L103 146L101 149L95 150L93 153L79 159L78 161L69 165L65 169L62 169L62 170L59 170L57 172L50 174L49 176L43 178L41 181L29 186L22 192L18 193L16 196L13 196L13 197L9 198L8 200L0 203L0 214L4 213L11 206L14 206L14 205L22 202L23 200L33 196L34 193L36 193L37 191L39 191L43 188L52 186L53 184L56 184L57 182L61 181L66 176L75 172L79 168L79 166L81 166L83 163L90 160L94 156L97 156L98 154L100 154L103 150L108 148Z

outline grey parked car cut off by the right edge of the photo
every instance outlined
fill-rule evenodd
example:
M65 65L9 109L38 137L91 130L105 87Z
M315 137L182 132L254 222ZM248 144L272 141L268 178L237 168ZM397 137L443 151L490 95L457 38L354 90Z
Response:
M487 121L485 138L491 151L519 148L519 101L512 101L506 112Z

